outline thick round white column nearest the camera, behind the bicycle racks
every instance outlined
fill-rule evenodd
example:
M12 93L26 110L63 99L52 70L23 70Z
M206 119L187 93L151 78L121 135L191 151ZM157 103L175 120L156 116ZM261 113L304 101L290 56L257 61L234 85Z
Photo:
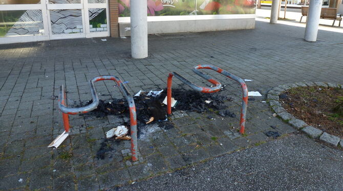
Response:
M147 5L146 0L130 0L131 56L147 57Z

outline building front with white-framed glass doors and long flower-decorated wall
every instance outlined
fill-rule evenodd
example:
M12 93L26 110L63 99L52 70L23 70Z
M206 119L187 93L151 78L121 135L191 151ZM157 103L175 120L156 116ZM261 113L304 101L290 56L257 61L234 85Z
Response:
M147 1L148 33L252 29L253 0ZM130 36L130 0L0 0L0 43Z

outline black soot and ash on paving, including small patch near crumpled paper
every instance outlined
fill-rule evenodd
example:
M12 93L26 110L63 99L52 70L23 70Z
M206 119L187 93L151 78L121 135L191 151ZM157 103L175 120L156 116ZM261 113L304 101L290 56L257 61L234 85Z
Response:
M162 104L162 101L166 97L166 89L158 96L147 96L147 93L141 93L140 96L134 97L136 111L137 111L137 129L138 138L147 139L149 135L161 131L169 130L174 128L174 124L167 121L167 107ZM209 109L220 110L222 116L235 117L235 114L225 109L227 106L224 104L226 101L232 101L233 99L228 96L223 96L222 94L215 93L201 93L195 90L184 90L184 89L173 89L172 97L177 100L177 105L172 108L173 111L183 110L183 111L195 111L203 113ZM206 103L205 101L210 101ZM82 107L89 105L91 101L83 102L77 105L77 107ZM82 114L85 118L87 117L105 117L107 115L118 115L118 117L123 118L124 125L128 128L130 132L130 123L125 120L127 116L130 115L128 110L128 105L125 99L113 99L112 101L99 100L99 105L96 109L89 113ZM155 120L152 123L146 124L151 117ZM114 151L111 147L111 143L117 143L121 140L116 140L114 138L104 139L100 144L100 149L96 153L98 159L104 159L106 153ZM111 157L111 156L109 156Z

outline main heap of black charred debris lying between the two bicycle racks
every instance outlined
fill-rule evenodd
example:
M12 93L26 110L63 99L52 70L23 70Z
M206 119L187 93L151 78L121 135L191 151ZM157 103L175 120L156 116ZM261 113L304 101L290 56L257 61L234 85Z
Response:
M160 94L152 94L148 92L141 92L139 96L134 97L137 121L138 123L147 123L154 117L154 122L162 122L167 120L167 107L162 102L167 96L166 89ZM221 115L234 117L235 114L226 110L225 102L232 101L232 98L223 95L221 92L217 93L201 93L195 90L173 89L172 97L177 100L174 108L175 110L196 111L203 113L206 110L215 109L220 111ZM81 103L78 107L82 107L92 103ZM125 99L113 99L112 101L99 100L98 107L84 116L104 117L107 115L129 115L128 105Z

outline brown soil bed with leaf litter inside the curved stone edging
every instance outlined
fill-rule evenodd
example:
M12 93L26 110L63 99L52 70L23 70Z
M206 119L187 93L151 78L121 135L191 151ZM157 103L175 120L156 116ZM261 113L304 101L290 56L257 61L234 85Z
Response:
M279 97L281 105L296 118L343 138L343 113L334 109L343 103L343 89L297 87L287 90Z

